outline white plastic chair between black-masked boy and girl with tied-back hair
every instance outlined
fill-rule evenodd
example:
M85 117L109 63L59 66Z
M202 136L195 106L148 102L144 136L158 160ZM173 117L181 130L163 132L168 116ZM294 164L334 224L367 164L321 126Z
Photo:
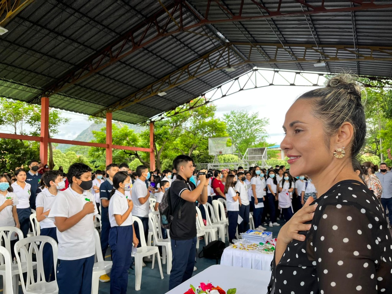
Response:
M98 216L98 214L96 214ZM101 249L101 238L98 230L94 230L95 239L95 255L97 261L93 266L93 278L91 279L91 294L98 294L99 288L99 277L104 274L109 274L112 269L113 261L103 260L102 249Z

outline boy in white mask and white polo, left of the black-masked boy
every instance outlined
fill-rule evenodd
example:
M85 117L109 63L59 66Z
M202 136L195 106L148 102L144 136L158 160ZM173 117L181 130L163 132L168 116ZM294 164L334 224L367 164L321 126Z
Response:
M56 170L45 172L42 179L48 188L38 193L35 200L37 221L40 222L41 228L40 235L52 237L57 242L56 225L54 225L53 220L47 218L47 216L49 215L56 196L61 193L57 191L64 189L65 182L63 181L62 172ZM49 244L45 244L42 258L42 261L44 262L45 280L47 282L54 281L53 250Z

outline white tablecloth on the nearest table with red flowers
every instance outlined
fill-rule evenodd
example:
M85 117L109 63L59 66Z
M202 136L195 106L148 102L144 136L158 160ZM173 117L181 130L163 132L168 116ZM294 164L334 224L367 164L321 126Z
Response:
M211 265L166 294L182 294L190 288L189 285L198 287L201 282L210 282L225 291L237 288L237 294L267 293L270 278L271 272L265 270Z

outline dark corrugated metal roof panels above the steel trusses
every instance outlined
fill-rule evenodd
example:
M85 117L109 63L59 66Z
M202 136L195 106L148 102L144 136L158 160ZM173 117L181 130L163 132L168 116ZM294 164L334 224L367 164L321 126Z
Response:
M308 1L309 2L309 1ZM196 24L197 17L203 16L207 1L188 0L183 6L183 27ZM245 0L242 16L260 16L278 9L278 0ZM311 1L321 5L321 0ZM374 1L376 4L392 4L392 1ZM171 5L171 1L163 1ZM209 10L209 20L230 18L238 15L241 1L224 0L214 3ZM325 3L326 8L349 7L348 1ZM6 25L8 33L0 36L0 95L23 101L30 101L57 80L78 68L84 60L111 44L130 28L140 24L134 38L143 35L146 19L155 15L162 6L155 0L145 1L97 1L97 0L36 0ZM307 7L296 1L283 1L280 11L302 12ZM171 11L169 9L169 11ZM85 114L94 114L108 106L131 96L163 77L178 71L181 67L225 44L313 44L313 45L352 45L356 35L356 46L392 47L392 9L369 9L361 11L327 12L312 15L295 15L268 19L220 22L195 26L163 38L158 38L128 56L108 65L97 73L69 85L60 93L53 94L50 105ZM180 13L176 10L172 18L180 24ZM157 15L156 21L167 22L166 32L177 28L167 13ZM144 27L143 27L144 26ZM353 30L354 28L354 30ZM156 31L149 30L145 40L152 40ZM316 44L318 43L319 44ZM119 48L121 44L114 46ZM232 47L237 53L230 53L231 62L243 62L250 58L251 63L235 66L236 71L216 70L208 72L186 83L168 89L165 96L152 96L138 103L115 111L113 118L129 123L143 122L156 114L181 105L205 93L212 87L238 76L254 66L278 69L314 71L309 62L292 63L295 57L304 54L303 47L290 46L286 51L278 51L278 61L265 63L273 58L276 47L261 45L252 49L249 45L236 44ZM124 51L132 49L127 42ZM332 48L321 49L334 56ZM354 49L355 50L355 49ZM356 49L359 54L369 54L367 49ZM388 51L388 50L387 50ZM390 51L388 51L390 52ZM249 55L249 56L248 56ZM340 58L352 58L352 53L339 51ZM385 57L375 52L375 57ZM217 51L211 55L216 67L227 67L227 53ZM307 59L322 59L315 51L307 51ZM287 63L289 62L289 63ZM350 70L362 75L391 77L392 61L341 61L327 62L331 72ZM198 67L193 65L190 70ZM199 71L207 71L207 62L200 65ZM179 81L185 80L182 76ZM167 82L165 85L169 85Z

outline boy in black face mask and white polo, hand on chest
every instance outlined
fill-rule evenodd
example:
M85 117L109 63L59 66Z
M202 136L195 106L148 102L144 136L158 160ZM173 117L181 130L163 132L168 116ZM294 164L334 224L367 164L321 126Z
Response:
M91 169L74 163L68 169L68 189L56 196L49 217L57 227L57 284L59 294L90 294L95 239L94 217L98 214L93 194Z

